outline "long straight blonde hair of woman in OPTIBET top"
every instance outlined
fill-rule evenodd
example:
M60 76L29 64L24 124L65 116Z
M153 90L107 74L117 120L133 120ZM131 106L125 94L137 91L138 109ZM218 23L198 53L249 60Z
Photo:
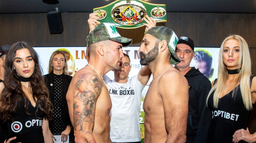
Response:
M252 96L251 96L251 83L250 83L250 76L251 76L251 57L248 48L248 44L244 40L243 37L239 35L230 35L228 36L220 46L220 53L219 53L219 66L218 66L218 80L211 88L206 103L208 102L209 96L213 94L213 106L214 108L218 107L220 92L224 88L224 83L228 79L228 72L227 66L223 63L223 48L224 44L228 40L237 40L239 42L240 47L240 55L238 61L238 67L241 67L238 74L238 79L236 80L235 84L240 82L240 91L242 94L244 107L247 110L252 110ZM233 90L232 96L237 92L237 87Z

